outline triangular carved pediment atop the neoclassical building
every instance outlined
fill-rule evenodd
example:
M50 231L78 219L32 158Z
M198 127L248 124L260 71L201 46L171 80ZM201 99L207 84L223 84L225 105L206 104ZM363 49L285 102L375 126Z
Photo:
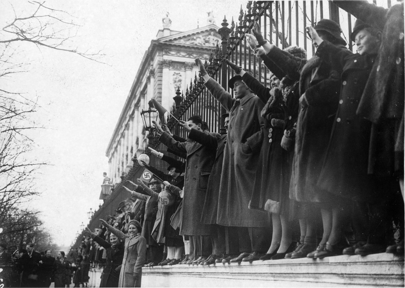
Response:
M221 36L218 34L218 29L219 27L212 24L160 38L159 42L215 47L217 43L221 44Z

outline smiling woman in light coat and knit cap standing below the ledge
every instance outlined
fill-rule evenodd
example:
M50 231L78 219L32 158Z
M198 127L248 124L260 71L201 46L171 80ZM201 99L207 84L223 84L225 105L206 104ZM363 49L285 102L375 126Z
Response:
M119 273L118 287L140 287L142 266L146 261L146 239L141 235L141 224L136 220L128 223L128 233L115 229L103 219L100 221L107 230L125 242L124 258Z

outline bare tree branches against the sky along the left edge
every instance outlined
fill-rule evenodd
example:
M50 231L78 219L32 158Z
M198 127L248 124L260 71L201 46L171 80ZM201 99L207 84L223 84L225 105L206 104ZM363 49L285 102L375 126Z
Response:
M12 7L13 8L13 7ZM13 8L14 10L14 8ZM39 50L52 49L74 53L79 57L102 63L101 51L80 50L75 44L80 27L77 18L66 11L46 6L45 2L27 2L26 15L16 15L0 30L0 227L2 238L25 235L42 222L37 212L22 209L24 202L38 196L35 175L46 163L30 160L34 142L29 131L44 128L32 117L38 96L10 85L13 75L29 71L32 63L24 62L29 45ZM20 45L29 43L28 45ZM7 84L6 84L7 83ZM11 86L11 88L10 88ZM9 88L4 88L9 87ZM31 221L32 220L32 221ZM24 232L24 230L26 232ZM25 234L24 234L25 233ZM20 235L21 236L21 235ZM20 237L20 242L24 237ZM12 241L12 239L9 239Z

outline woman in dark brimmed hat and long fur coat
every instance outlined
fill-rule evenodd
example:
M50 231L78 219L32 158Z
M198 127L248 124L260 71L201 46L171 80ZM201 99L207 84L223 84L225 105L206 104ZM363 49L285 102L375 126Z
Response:
M337 199L317 186L322 164L326 156L329 139L338 108L340 91L339 63L351 55L340 36L339 25L329 19L321 19L314 29L322 39L330 40L338 49L335 62L322 61L318 56L307 61L301 71L299 82L300 110L297 120L295 151L292 178L290 182L290 198L302 204L336 205ZM307 207L308 209L308 207ZM318 211L311 206L312 214ZM292 258L306 257L315 252L316 237L314 218L309 214L305 219L306 236L300 251L293 253ZM300 218L301 220L301 218ZM303 220L300 226L304 225ZM312 233L311 233L312 232ZM321 243L316 251L325 248ZM308 255L309 256L309 255Z

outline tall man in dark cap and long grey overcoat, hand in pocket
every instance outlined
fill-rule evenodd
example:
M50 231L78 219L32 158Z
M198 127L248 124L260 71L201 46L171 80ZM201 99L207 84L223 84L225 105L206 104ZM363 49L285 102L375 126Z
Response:
M270 245L269 215L250 210L258 154L253 151L261 142L251 137L260 131L264 119L260 116L264 104L242 82L239 75L228 81L236 99L212 79L199 58L195 59L205 86L229 112L229 127L222 167L217 223L239 227L239 251L241 254L231 262L255 261Z

